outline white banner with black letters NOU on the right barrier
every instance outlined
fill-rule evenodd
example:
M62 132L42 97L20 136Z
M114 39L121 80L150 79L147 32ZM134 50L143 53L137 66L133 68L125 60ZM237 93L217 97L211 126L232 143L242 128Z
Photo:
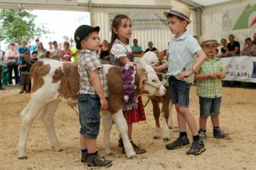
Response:
M221 61L228 69L225 80L256 83L256 57L224 57Z

